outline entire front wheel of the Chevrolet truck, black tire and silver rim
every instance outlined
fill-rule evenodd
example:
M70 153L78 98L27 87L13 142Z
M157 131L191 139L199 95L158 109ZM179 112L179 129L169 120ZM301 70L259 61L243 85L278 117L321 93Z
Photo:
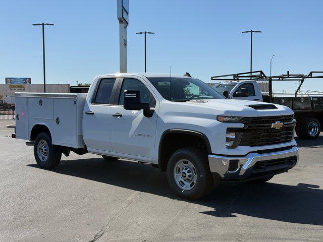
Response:
M213 185L207 157L195 148L179 149L171 155L167 179L179 197L189 200L204 197Z

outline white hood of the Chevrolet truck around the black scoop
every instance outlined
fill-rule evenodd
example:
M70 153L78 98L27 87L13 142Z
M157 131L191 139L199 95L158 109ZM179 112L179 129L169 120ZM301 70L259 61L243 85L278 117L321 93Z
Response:
M203 100L191 100L186 102L187 104L200 105L201 107L214 108L219 111L230 112L232 116L275 116L275 115L288 115L293 114L293 110L287 106L257 102L257 101L248 101L240 99L203 99ZM277 108L273 109L255 109L250 107L250 105L274 105Z

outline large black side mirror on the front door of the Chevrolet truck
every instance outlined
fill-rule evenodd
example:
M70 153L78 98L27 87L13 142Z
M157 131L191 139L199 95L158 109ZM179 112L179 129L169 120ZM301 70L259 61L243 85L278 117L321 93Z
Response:
M139 90L125 90L123 107L126 110L150 109L149 103L142 103Z

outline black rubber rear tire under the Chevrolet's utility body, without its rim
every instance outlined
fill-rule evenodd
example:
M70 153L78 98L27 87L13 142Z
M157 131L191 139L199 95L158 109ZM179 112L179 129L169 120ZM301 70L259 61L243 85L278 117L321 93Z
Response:
M38 156L38 149L41 149L38 147L38 144L43 143L47 148L47 155L46 159L43 160ZM40 151L39 151L40 152ZM48 132L41 132L37 135L35 139L34 144L34 156L36 159L37 164L44 169L51 169L60 164L61 158L62 158L62 150L60 146L52 145L51 144L51 138L48 134Z

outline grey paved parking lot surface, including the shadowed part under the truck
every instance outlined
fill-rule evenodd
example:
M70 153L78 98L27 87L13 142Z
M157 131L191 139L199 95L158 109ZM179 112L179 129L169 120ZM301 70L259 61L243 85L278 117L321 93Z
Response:
M71 152L52 170L0 121L0 241L323 241L323 133L266 184L180 200L148 164Z

